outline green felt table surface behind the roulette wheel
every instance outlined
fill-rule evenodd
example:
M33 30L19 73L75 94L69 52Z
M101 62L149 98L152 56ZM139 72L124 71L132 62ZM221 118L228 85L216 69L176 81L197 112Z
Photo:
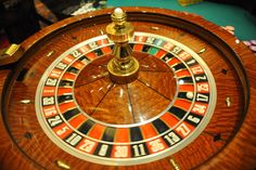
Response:
M241 40L256 39L256 17L244 9L222 3L204 1L181 6L177 0L107 0L110 6L154 6L175 11L187 11L202 15L219 26L231 25Z

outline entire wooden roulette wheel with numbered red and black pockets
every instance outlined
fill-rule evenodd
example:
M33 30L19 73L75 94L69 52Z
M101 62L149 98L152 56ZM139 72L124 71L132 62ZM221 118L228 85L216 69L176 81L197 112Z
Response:
M74 16L1 56L2 169L254 169L256 58L203 17Z

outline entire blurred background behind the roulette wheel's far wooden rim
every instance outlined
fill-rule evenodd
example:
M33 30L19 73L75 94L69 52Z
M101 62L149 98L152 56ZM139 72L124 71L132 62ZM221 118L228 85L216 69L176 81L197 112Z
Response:
M115 6L185 11L222 26L241 40L256 40L256 0L0 0L0 49L21 43L66 17Z

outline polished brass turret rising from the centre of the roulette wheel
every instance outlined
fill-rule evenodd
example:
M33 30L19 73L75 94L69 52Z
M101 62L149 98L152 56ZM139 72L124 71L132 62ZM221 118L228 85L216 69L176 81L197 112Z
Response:
M114 58L107 64L110 78L115 83L129 83L138 78L139 62L131 56L129 40L132 38L133 26L126 22L127 15L121 9L115 9L111 15L112 23L106 26L107 37L115 43Z

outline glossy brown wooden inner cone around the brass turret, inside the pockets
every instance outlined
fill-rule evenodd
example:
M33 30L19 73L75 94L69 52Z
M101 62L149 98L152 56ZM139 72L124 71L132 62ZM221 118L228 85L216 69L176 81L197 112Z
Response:
M177 91L170 67L142 52L133 52L132 56L141 67L138 80L129 84L113 83L107 77L111 55L82 69L76 79L74 94L85 113L106 123L130 125L149 120L168 107Z

